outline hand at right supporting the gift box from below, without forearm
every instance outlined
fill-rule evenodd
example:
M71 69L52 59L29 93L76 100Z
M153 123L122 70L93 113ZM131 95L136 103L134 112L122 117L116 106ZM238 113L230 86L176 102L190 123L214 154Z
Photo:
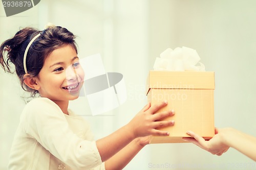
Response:
M192 131L187 131L187 134L193 138L183 137L183 140L194 143L211 154L220 156L229 149L229 146L224 143L224 131L225 129L218 130L215 128L215 135L210 140L205 140L198 134Z

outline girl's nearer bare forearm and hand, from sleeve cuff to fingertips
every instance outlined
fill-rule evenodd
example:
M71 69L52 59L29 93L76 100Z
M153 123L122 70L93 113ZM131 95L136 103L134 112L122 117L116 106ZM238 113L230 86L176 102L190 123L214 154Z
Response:
M157 130L159 127L172 126L174 124L173 121L161 120L163 117L174 114L171 110L158 112L160 108L166 105L167 102L154 106L148 103L130 123L109 136L97 140L96 145L102 162L114 156L135 138L148 135L168 136L169 132Z

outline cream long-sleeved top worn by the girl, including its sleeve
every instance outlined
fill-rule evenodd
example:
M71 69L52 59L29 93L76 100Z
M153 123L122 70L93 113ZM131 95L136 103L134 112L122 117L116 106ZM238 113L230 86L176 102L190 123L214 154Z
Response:
M20 115L9 170L105 169L88 123L64 114L48 98L30 101Z

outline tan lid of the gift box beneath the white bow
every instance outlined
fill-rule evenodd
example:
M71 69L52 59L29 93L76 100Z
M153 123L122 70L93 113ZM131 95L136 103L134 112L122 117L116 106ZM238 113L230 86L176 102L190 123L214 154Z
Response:
M215 89L215 73L214 71L151 70L146 82L146 94L151 88Z

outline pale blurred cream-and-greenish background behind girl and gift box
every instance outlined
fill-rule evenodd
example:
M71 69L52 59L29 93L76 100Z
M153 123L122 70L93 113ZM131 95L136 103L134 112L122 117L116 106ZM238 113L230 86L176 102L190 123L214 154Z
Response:
M0 41L27 26L48 22L77 35L80 58L100 53L107 72L120 72L127 100L92 116L81 97L70 108L91 123L95 139L128 123L147 103L145 82L166 48L197 50L215 71L215 126L256 136L256 1L233 0L41 0L6 17L0 5ZM7 169L11 142L25 102L16 75L0 69L0 169ZM124 169L255 169L251 159L229 149L218 157L191 143L147 145Z

